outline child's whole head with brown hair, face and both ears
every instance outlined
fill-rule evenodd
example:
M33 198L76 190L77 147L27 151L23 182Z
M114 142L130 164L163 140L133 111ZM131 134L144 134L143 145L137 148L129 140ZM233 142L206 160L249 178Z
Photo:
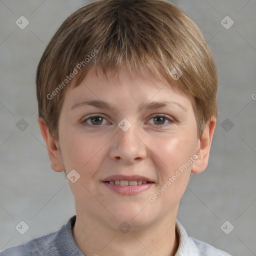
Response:
M199 28L164 0L99 0L78 9L47 45L36 91L52 169L80 175L69 181L77 214L134 228L173 216L190 172L207 166L216 66ZM112 108L81 104L91 100ZM148 108L152 101L167 103ZM123 195L105 185L112 175L152 183Z

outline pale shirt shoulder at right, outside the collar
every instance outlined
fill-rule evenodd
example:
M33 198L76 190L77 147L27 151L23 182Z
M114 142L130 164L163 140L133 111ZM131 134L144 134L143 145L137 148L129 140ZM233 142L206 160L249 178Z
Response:
M195 245L201 256L231 256L227 252L217 249L210 244L197 240L195 238L189 237L191 243Z

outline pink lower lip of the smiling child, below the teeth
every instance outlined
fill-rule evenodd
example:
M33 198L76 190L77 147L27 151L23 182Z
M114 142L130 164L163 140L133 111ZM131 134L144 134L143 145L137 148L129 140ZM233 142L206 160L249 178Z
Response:
M103 184L119 194L135 195L139 192L145 191L146 189L150 188L154 183L145 183L145 184L134 185L134 186L129 186L129 185L121 186L121 185L116 185L114 183L108 183L108 182L103 182Z

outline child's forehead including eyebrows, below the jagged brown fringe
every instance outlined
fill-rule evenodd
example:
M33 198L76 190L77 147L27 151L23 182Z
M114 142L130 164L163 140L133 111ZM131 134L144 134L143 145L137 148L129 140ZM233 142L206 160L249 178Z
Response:
M113 112L144 109L160 109L166 106L179 112L187 112L190 98L166 80L158 79L150 73L133 73L127 68L120 69L119 75L110 70L104 75L96 75L90 69L82 82L68 88L63 107L66 110L83 109L94 106ZM65 111L66 111L65 110ZM189 110L189 111L190 111Z

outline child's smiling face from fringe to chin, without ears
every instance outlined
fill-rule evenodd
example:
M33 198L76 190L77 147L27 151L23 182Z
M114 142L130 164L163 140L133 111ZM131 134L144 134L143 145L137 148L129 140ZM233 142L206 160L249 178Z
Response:
M175 217L198 157L191 101L164 80L131 77L125 65L119 79L110 71L107 78L90 69L67 89L60 112L61 161L80 175L68 181L76 214L134 229Z

